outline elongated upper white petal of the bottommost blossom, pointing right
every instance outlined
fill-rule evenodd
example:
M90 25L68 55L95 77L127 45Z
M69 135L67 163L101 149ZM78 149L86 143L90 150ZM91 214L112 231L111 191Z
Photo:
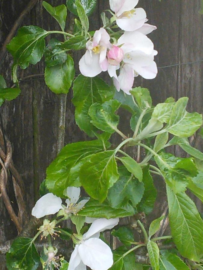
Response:
M83 235L83 239L88 239L97 232L103 232L108 229L112 229L119 222L119 218L99 218L95 220L88 231Z

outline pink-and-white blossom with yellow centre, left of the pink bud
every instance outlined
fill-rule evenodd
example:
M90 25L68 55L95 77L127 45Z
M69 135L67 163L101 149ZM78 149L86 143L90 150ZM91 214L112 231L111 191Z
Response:
M106 30L103 28L97 30L93 40L86 43L87 51L79 61L80 72L86 77L94 77L106 71L108 69L106 53L110 46L110 36Z

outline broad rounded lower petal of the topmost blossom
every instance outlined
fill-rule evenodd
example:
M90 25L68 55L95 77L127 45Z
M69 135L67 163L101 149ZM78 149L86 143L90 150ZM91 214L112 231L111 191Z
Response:
M116 20L117 25L125 31L135 31L143 26L146 19L146 12L143 8L135 9L135 14L130 17L122 17Z

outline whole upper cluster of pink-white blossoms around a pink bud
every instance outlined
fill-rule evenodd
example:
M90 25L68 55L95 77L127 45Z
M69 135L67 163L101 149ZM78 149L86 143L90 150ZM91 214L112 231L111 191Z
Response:
M135 8L139 0L110 0L110 8L115 13L117 26L124 30L123 35L111 44L111 37L104 28L94 33L86 43L85 55L79 62L81 73L94 77L102 71L108 71L113 78L117 91L123 90L130 95L134 77L140 75L145 79L154 79L157 66L154 56L154 44L146 36L156 26L146 23L146 12ZM117 70L120 70L117 75Z

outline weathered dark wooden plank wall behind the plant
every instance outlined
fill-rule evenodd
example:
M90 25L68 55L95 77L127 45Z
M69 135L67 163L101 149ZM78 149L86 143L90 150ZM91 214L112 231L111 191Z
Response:
M0 0L0 42L4 42L15 20L29 0ZM56 6L65 0L47 0ZM91 17L91 28L101 26L100 13L109 8L107 0L98 0L97 10ZM158 50L158 67L180 64L203 59L202 34L203 16L198 13L200 0L140 0L139 6L145 8L149 23L158 26L150 38ZM38 25L46 30L58 29L56 22L42 8L42 1L26 16L22 25ZM78 60L81 52L75 53ZM11 56L6 54L0 66L0 73L7 81L11 80ZM189 111L202 113L203 62L160 68L154 80L136 79L136 86L150 89L154 104L167 97L188 96ZM21 76L43 73L44 63L30 66ZM108 77L105 75L106 78ZM34 204L36 188L45 178L46 167L56 156L57 118L59 98L45 85L43 80L20 84L22 94L16 100L5 102L0 108L2 129L13 146L13 159L26 186L26 205L29 211ZM83 140L85 135L75 125L74 107L71 104L72 91L68 94L66 109L65 143ZM125 119L122 119L125 122ZM178 151L178 150L177 150ZM164 200L164 186L159 186ZM12 195L12 192L11 192ZM162 204L162 202L159 202ZM158 213L155 213L158 214ZM0 244L16 235L13 223L0 199ZM0 255L0 269L5 269L4 257Z

